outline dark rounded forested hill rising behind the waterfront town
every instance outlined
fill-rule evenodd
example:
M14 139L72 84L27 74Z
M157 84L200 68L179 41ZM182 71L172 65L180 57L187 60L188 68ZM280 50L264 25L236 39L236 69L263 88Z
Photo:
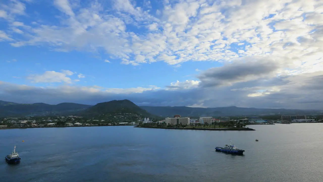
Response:
M103 114L114 113L132 113L139 114L144 117L151 117L152 115L146 110L140 108L130 100L112 100L109 102L98 103L82 112L83 116L99 116Z

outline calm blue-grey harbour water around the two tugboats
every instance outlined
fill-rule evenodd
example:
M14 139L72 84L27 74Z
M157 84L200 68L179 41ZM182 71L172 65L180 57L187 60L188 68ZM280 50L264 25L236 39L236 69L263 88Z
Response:
M132 126L0 130L3 159L14 145L21 157L19 165L0 163L0 181L323 181L323 123L251 128L256 131ZM245 150L243 156L214 151L230 138Z

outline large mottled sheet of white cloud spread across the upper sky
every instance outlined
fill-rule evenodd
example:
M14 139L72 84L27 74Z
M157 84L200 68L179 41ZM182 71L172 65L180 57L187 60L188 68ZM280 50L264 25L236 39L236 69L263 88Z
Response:
M19 9L17 2L15 7ZM170 65L186 61L231 61L239 56L262 55L294 62L286 67L291 70L304 60L314 65L323 57L322 8L315 0L301 2L170 2L159 10L162 17L157 15L157 18L135 1L114 0L109 9L98 2L82 7L72 6L68 0L55 0L55 7L69 17L60 17L60 24L55 26L42 24L15 29L16 33L24 32L25 37L15 39L11 45L49 44L56 51L103 48L123 64L132 65L156 61ZM24 10L22 7L25 6L20 11ZM130 31L128 26L146 31ZM152 31L158 27L161 31ZM234 50L231 43L245 45L245 49Z

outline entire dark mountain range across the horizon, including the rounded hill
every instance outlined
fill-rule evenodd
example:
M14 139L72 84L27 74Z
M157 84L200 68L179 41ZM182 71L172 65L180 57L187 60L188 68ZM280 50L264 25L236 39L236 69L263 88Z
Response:
M190 107L153 107L137 106L130 100L113 100L109 102L98 103L95 106L60 103L50 105L45 103L18 104L0 100L1 117L23 117L27 115L34 116L52 116L52 115L83 115L96 116L107 113L138 113L147 117L172 117L176 114L194 117L203 116L258 116L258 115L315 115L323 114L321 110L299 110L299 109L266 109L266 108L239 108L218 107L218 108L190 108Z

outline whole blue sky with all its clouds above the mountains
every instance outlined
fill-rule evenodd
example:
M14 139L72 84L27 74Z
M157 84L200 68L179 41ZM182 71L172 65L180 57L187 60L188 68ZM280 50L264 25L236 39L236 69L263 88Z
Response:
M2 0L0 100L323 109L320 0Z

